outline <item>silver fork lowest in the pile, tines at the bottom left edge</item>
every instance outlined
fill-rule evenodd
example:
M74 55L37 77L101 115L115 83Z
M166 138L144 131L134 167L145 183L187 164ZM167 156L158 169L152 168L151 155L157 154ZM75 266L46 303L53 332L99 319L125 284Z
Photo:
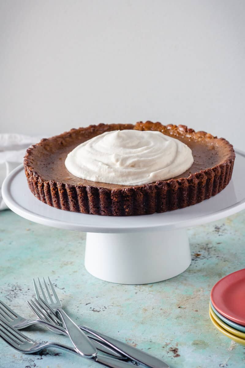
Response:
M30 339L16 328L6 323L2 319L2 317L0 317L0 337L12 348L25 354L33 354L43 349L54 347L68 351L69 353L76 354L80 357L82 356L78 350L76 350L71 346L55 342L40 343L33 339ZM99 364L105 365L110 368L129 368L131 365L129 362L126 361L117 360L115 358L110 357L104 357L101 355L96 355L91 359Z

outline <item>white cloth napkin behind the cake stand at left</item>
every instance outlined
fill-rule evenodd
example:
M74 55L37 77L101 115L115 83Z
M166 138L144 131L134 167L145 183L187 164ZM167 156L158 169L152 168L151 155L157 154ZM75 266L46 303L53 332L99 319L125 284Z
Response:
M32 144L39 142L42 138L15 133L0 134L0 210L8 208L1 195L4 179L15 167L23 162L26 149Z

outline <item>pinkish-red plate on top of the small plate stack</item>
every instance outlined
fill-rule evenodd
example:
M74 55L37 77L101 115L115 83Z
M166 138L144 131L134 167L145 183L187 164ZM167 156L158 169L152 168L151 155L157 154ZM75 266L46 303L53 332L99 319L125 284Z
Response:
M219 280L211 290L211 301L223 316L245 326L245 268Z

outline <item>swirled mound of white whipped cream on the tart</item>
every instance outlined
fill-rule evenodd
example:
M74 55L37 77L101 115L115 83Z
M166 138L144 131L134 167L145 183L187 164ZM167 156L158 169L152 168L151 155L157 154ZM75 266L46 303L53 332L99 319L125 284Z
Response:
M193 163L191 149L158 131L105 132L80 144L66 157L66 169L101 183L141 185L184 173Z

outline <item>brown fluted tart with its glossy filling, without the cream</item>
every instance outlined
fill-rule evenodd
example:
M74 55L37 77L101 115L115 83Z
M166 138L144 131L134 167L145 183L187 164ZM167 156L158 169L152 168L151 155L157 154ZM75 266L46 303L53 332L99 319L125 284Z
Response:
M155 130L185 143L194 162L183 174L151 184L127 186L98 183L73 176L65 159L76 146L106 131ZM98 124L42 139L26 152L25 174L40 201L66 211L106 216L146 215L184 208L223 190L231 180L235 152L224 138L185 125Z

